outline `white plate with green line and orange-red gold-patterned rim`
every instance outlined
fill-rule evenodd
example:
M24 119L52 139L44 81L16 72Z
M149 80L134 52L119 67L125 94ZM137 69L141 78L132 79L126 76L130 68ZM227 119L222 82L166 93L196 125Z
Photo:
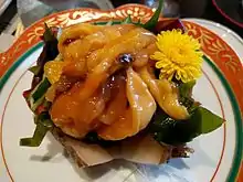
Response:
M64 157L61 144L51 135L40 148L19 147L19 139L32 135L34 129L22 90L30 87L32 75L27 69L36 62L43 46L40 35L44 31L44 22L63 28L78 22L120 20L128 14L146 21L152 10L127 4L110 11L75 9L51 14L28 28L8 52L0 54L0 181L49 182L53 178L59 182L223 182L236 181L237 178L242 181L243 69L239 50L243 45L239 43L236 52L233 51L236 41L229 41L231 46L224 41L231 34L220 38L209 30L212 24L203 24L200 20L183 20L188 33L201 42L207 57L203 76L198 81L193 96L226 122L214 132L190 142L194 149L190 158L173 159L161 165L116 160L78 169Z

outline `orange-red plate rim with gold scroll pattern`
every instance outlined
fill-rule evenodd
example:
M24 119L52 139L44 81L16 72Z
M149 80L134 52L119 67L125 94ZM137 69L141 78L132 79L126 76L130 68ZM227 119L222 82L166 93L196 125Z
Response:
M140 10L141 10L142 13L140 12ZM89 14L89 19L83 19L85 17L85 13ZM15 67L19 66L18 65L18 60L20 57L22 57L25 53L28 53L30 51L30 49L35 47L36 44L40 42L39 35L41 35L43 33L44 22L47 22L47 24L51 24L51 25L65 26L65 25L68 25L70 22L76 23L76 22L86 22L86 21L87 22L107 21L107 20L110 20L110 19L120 20L120 19L124 19L127 14L133 15L133 19L138 19L139 13L140 13L140 18L144 18L142 20L146 21L152 14L152 10L149 9L148 7L145 7L145 6L141 6L141 4L125 4L125 6L122 6L117 9L107 10L107 11L81 8L81 9L73 9L73 10L66 10L66 11L57 12L57 13L51 14L49 17L45 17L45 18L39 20L38 22L35 22L34 24L29 26L23 32L23 34L15 41L15 43L7 52L0 54L0 76L3 76L2 78L0 77L1 78L0 79L0 83L1 83L0 84L0 92L1 92L1 88L3 87L4 83L8 79L8 78L4 79L6 75L7 74L12 74L14 72L14 66ZM135 14L138 14L138 15L135 15ZM82 19L84 21L82 21ZM230 64L229 64L230 68L226 67L226 64L223 65L223 63L221 63L223 61L221 61L221 62L218 61L216 63L213 64L223 74L225 74L226 81L232 79L233 75L230 75L230 73L232 73L231 71L237 72L237 74L242 76L240 78L243 78L243 73L240 73L242 71L242 65L241 65L240 58L237 57L235 52L221 38L219 38L215 33L211 32L210 30L208 30L208 29L205 29L205 28L203 28L199 24L191 23L191 22L188 22L188 21L183 21L183 22L184 22L186 26L189 30L189 34L191 34L192 36L199 39L199 41L201 43L203 43L203 45L204 44L208 45L208 46L210 45L209 47L211 47L211 50L205 49L207 46L203 46L205 49L203 51L210 57L210 60L216 61L216 58L220 58L220 56L223 57L223 55L221 55L219 53L218 54L213 53L213 50L218 51L218 49L222 49L220 51L222 51L222 52L226 51L226 52L229 52L229 55L231 53L230 56L232 56L232 57L229 61L230 62ZM200 29L201 35L198 35L197 29ZM212 35L211 42L210 42L210 40L208 40L208 38L210 38L210 35ZM220 40L220 42L216 42L219 40ZM213 42L213 41L215 41L215 42ZM228 63L228 62L225 61L225 63ZM237 67L239 65L241 65L240 71L235 69L235 67L239 68ZM233 67L231 67L231 66L233 66ZM8 73L7 73L7 71L8 71ZM231 77L231 79L229 79L229 77ZM241 92L243 92L243 81L242 81L242 85L240 85L240 86L232 85L232 82L230 82L229 84L233 88L233 90L234 90L233 93L237 97L236 103L239 104L239 106L241 107L241 110L243 113L243 99L239 99L239 94ZM241 87L241 88L235 89L237 87ZM241 116L241 114L240 114L240 116ZM242 122L240 125L242 125ZM240 135L242 135L241 130L240 130ZM239 146L236 146L236 148L237 147ZM241 150L241 153L242 153L242 144L240 146L240 150ZM241 161L242 160L242 154L239 158L240 158L239 160ZM233 160L235 161L235 158ZM231 171L230 171L230 173L231 173ZM243 173L243 164L242 164L242 168L240 169L240 167L239 167L239 171L236 171L236 175L239 175L239 181L241 180L240 176L242 178L242 174L240 174L240 173Z

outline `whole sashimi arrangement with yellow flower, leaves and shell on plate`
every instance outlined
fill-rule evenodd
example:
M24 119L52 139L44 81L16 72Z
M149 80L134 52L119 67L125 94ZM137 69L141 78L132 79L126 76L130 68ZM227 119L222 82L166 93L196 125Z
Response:
M38 147L51 131L75 158L82 146L96 144L105 160L93 165L110 159L110 146L142 163L130 156L145 153L147 143L158 164L188 157L187 142L218 129L224 120L192 98L203 62L200 43L180 20L159 21L161 8L162 1L145 24L130 17L80 23L60 36L45 24L32 86L23 93L36 128L20 146Z

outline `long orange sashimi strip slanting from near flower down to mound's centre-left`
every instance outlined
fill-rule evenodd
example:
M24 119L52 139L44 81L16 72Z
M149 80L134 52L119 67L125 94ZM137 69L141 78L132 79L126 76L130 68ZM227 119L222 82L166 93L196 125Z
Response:
M110 41L107 45L104 46L97 61L99 64L94 67L93 72L87 75L87 78L84 83L83 89L80 90L80 99L86 99L89 97L101 85L105 82L116 69L119 63L117 62L117 56L123 53L135 53L146 47L151 42L154 42L154 35L148 33L142 29L134 29L127 34Z

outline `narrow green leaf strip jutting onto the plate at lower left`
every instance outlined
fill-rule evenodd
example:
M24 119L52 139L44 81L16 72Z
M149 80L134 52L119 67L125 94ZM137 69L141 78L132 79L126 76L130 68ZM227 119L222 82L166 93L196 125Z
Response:
M53 122L47 113L42 113L35 120L36 127L33 137L20 139L20 146L39 147L47 131L53 128Z

